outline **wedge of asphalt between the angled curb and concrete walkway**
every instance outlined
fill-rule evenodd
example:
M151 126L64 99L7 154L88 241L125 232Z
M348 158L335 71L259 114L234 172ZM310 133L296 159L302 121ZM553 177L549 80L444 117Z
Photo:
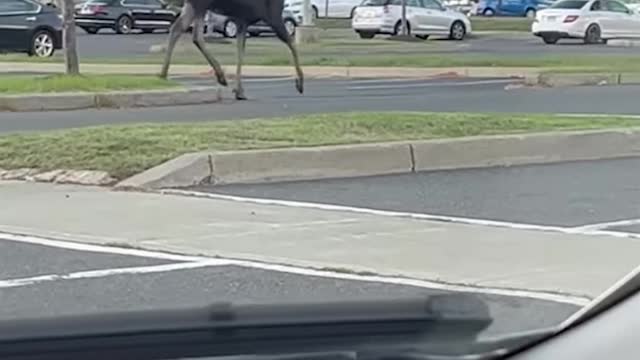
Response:
M640 159L630 158L192 189L576 227L640 218L638 177ZM623 224L610 230L638 232L640 227Z

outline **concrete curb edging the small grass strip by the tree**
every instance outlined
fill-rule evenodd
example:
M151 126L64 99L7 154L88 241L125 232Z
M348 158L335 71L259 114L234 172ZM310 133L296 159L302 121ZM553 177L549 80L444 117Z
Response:
M20 94L0 96L0 111L179 106L209 104L221 99L222 90L217 87L103 93Z

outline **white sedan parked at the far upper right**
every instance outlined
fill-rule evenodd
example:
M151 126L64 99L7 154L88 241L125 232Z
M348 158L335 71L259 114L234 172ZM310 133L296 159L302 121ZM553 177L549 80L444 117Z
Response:
M596 44L614 38L640 37L640 15L617 0L558 0L539 10L533 35L547 44L559 39L584 39Z

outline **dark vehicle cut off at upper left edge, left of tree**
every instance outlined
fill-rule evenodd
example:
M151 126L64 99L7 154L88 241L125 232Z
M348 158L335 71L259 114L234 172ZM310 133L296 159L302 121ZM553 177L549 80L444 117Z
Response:
M49 57L61 48L59 9L33 0L0 1L0 52Z

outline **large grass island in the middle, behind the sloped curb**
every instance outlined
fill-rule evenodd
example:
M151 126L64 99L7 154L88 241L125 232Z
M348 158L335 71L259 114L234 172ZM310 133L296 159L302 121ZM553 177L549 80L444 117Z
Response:
M0 168L105 170L123 179L178 155L637 126L638 120L530 114L334 113L270 120L135 124L0 135Z

